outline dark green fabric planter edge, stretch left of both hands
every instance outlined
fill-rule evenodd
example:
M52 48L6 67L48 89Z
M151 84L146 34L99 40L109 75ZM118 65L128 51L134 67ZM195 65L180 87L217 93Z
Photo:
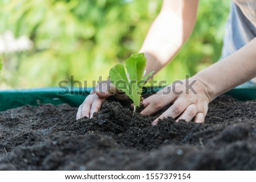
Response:
M46 103L54 105L67 103L72 107L77 107L89 95L91 90L92 88L73 88L69 93L58 87L2 90L0 91L0 111L27 104L39 105Z

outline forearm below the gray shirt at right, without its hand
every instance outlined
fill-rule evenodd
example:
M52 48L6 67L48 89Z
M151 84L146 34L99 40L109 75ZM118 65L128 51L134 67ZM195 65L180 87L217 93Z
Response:
M229 57L197 73L209 100L256 77L256 38Z

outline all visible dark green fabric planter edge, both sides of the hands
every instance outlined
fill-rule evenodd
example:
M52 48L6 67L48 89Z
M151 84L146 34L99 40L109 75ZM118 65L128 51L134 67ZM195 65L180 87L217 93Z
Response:
M20 107L22 105L39 105L51 103L54 105L67 103L72 107L78 107L89 95L92 88L71 88L67 92L58 87L35 88L26 90L2 90L0 91L0 111ZM145 92L154 93L160 88L144 88ZM232 95L238 100L256 99L255 84L237 87L226 94Z

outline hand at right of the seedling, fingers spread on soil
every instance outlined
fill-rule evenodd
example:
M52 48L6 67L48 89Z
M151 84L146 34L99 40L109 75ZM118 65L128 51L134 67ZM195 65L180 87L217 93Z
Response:
M152 115L160 109L171 104L162 115L152 122L156 125L160 119L166 117L195 122L204 122L207 115L208 104L211 101L208 87L204 82L196 78L188 78L176 81L158 91L156 94L143 100L144 109L142 115Z

